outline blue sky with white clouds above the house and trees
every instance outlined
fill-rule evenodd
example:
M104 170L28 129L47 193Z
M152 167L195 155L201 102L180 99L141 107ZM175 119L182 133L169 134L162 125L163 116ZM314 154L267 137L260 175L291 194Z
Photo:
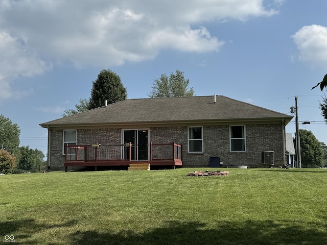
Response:
M321 0L2 0L0 114L20 127L20 145L46 154L39 124L88 98L100 70L136 99L179 69L196 95L286 114L297 95L299 128L327 143L324 94L311 90L327 73L326 9ZM294 119L286 130L294 134Z

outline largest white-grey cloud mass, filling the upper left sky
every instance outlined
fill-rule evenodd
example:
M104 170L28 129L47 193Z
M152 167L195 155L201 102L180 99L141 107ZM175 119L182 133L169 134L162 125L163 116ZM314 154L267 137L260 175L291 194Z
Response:
M153 59L162 49L218 52L205 23L277 13L281 0L0 1L0 80L34 76L51 63L108 67ZM266 2L265 2L266 3ZM4 80L5 79L5 80ZM0 99L1 100L1 99Z

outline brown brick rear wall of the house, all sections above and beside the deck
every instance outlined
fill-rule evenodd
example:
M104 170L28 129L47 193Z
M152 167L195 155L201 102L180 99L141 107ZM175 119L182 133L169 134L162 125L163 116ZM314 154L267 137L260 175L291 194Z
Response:
M51 130L50 165L62 168L62 130ZM220 157L224 166L260 166L261 151L275 152L275 166L282 166L283 135L281 125L246 125L246 152L229 152L229 126L204 126L204 149L202 154L188 153L188 127L153 127L149 131L149 141L182 144L183 166L208 166L209 157ZM77 130L77 144L120 144L121 129L80 129Z

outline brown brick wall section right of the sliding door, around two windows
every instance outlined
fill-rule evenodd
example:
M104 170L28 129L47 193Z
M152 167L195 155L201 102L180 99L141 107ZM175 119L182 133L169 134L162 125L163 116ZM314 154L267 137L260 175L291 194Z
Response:
M209 157L220 157L224 166L249 165L259 167L261 151L275 152L275 166L282 166L283 136L281 125L246 125L246 152L229 150L229 126L203 127L203 153L188 153L188 127L151 128L154 143L175 141L182 144L183 166L208 166Z

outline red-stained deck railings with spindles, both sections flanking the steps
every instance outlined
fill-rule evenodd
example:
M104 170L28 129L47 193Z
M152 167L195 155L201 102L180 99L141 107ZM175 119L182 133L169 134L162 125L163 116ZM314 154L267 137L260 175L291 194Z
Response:
M88 145L68 145L66 144L65 163L77 162L110 162L122 161L131 162L132 143L127 144L88 144ZM172 143L150 143L149 162L172 161L180 162L182 159L181 145ZM124 152L124 154L123 154ZM123 159L123 156L128 156ZM178 164L181 165L181 164Z

